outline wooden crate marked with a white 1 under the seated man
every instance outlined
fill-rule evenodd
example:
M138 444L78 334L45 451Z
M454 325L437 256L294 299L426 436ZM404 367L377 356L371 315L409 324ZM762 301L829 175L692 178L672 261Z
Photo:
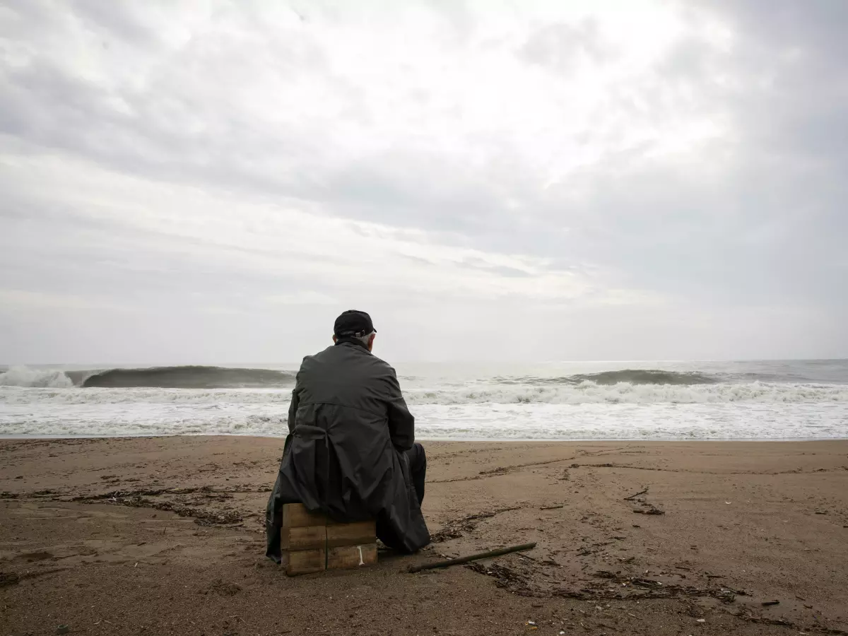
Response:
M282 558L286 573L323 572L377 563L377 524L338 523L301 504L282 507Z

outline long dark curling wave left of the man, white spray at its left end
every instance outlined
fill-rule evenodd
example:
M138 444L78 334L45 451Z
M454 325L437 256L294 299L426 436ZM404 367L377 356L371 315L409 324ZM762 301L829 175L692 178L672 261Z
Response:
M34 388L279 388L291 386L292 371L222 366L153 366L103 371L13 367L0 373L0 386Z

